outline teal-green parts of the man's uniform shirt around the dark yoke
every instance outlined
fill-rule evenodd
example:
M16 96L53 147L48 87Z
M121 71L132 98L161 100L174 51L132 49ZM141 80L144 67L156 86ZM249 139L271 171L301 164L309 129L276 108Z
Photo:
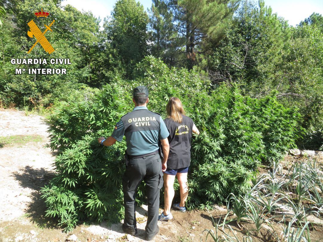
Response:
M148 110L147 107L137 106L135 110ZM113 130L112 137L121 142L123 136L126 136L127 154L130 156L145 155L155 152L159 149L158 142L160 139L165 139L169 136L167 127L160 117L159 130L140 130L135 132L126 132L123 121L120 119L115 129Z

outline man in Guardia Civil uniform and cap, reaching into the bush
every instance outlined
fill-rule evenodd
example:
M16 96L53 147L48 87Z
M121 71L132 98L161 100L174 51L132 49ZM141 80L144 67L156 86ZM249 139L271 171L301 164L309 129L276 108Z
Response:
M157 226L159 193L163 185L162 171L167 168L169 132L161 116L147 109L149 102L147 87L134 88L132 101L135 104L132 112L121 117L110 137L107 139L101 137L98 141L105 146L111 146L126 136L128 162L126 159L126 172L122 177L125 207L122 229L130 235L138 235L134 203L137 188L144 180L148 201L145 238L151 240L159 232ZM164 156L162 161L159 140Z

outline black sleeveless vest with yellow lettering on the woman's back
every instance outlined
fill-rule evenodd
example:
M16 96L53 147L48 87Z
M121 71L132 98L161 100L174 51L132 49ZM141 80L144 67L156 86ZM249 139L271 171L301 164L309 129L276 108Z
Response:
M179 169L191 164L191 138L193 130L193 120L182 115L182 123L177 123L171 118L164 120L169 136L169 155L167 168Z

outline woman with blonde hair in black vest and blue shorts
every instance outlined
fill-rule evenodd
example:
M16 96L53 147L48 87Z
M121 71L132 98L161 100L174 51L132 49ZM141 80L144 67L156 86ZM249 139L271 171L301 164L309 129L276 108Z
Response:
M174 198L174 180L177 176L180 185L181 202L173 207L185 212L185 202L188 195L187 172L191 163L191 138L192 133L199 135L193 120L185 116L182 102L177 97L171 97L166 106L167 118L165 125L170 133L168 136L169 155L167 169L164 172L164 211L158 220L166 221L173 218L171 205Z

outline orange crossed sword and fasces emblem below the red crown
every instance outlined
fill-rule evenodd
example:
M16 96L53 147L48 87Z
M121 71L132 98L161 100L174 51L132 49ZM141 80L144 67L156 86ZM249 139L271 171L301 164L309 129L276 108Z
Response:
M50 27L54 24L55 20L53 20L49 26L44 25L46 27L44 32L41 32L41 30L38 28L38 26L35 24L34 20L31 20L30 22L28 22L28 26L30 28L30 30L27 32L27 35L32 38L35 36L36 38L36 43L30 48L30 50L28 50L27 54L30 53L30 51L37 45L37 43L39 42L40 45L44 48L44 50L46 52L48 52L49 54L53 53L54 48L53 46L48 42L48 40L45 37L45 34L47 32L47 30L53 31L50 29Z

